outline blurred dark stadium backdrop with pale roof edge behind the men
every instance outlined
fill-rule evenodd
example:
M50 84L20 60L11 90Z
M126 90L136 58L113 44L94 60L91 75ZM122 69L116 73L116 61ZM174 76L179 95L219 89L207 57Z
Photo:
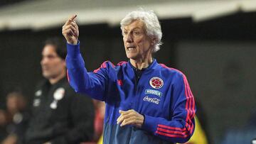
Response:
M164 45L155 57L186 74L206 113L210 140L243 138L256 112L255 0L1 0L1 108L14 89L33 96L42 79L43 42L62 36L63 23L73 13L88 70L105 60L127 60L119 21L139 6L159 16Z

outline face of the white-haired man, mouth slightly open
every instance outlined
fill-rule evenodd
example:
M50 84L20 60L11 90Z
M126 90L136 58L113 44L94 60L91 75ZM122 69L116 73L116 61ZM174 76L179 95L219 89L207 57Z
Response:
M144 60L152 51L152 40L146 35L144 23L139 20L132 21L124 26L122 31L124 48L127 57L132 60Z

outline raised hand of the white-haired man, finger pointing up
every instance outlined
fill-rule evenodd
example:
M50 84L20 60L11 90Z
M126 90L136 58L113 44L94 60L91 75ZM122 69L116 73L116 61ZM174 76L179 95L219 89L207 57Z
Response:
M63 36L65 37L67 42L72 45L78 44L79 31L78 25L77 23L75 23L76 17L77 15L73 15L70 18L68 18L68 21L65 22L62 30Z

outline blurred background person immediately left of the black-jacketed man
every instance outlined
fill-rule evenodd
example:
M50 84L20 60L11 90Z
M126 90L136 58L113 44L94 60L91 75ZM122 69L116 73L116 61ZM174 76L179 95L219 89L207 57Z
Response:
M10 92L6 96L6 113L8 136L2 144L23 143L24 132L28 126L30 115L26 111L26 99L21 92Z

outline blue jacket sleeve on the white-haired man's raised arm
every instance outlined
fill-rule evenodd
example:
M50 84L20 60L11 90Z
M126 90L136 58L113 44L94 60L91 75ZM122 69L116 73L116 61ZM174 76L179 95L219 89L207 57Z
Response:
M67 43L68 55L66 57L68 81L75 92L88 94L93 99L104 101L105 85L107 83L107 67L103 63L97 72L87 72L85 62L80 54L80 43L70 45Z

